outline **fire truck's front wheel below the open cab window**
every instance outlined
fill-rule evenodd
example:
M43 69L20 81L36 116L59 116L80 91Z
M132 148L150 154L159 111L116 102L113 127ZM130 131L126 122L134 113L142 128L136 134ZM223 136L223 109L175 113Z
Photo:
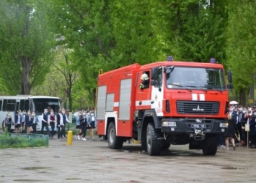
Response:
M161 153L162 140L157 140L158 133L152 123L146 128L146 149L149 156L156 156Z

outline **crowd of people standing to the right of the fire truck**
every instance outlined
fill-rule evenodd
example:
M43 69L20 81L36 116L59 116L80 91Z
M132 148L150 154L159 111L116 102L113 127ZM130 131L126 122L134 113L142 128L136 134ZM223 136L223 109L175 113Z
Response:
M229 141L233 149L237 143L241 146L256 148L256 109L255 107L244 108L242 105L231 106L227 118L228 130L219 136L219 146L229 149Z

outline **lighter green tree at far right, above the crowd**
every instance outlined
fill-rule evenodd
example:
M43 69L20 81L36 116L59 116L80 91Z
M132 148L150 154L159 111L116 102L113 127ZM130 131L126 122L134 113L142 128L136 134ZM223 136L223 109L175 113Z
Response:
M247 105L252 75L256 71L256 1L229 1L227 34L228 65L234 75L234 92L239 103Z

